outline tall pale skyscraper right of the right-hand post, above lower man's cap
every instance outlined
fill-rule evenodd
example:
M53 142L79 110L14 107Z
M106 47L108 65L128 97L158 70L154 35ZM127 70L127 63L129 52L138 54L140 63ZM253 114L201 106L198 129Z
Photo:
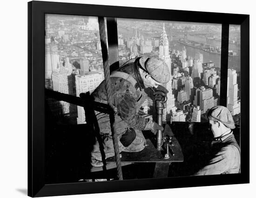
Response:
M232 115L240 113L240 100L237 100L238 84L236 70L228 69L227 108Z

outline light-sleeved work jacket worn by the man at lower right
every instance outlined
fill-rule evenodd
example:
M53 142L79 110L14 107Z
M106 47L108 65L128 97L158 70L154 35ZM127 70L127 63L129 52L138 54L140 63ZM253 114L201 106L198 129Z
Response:
M240 172L240 147L233 133L211 143L212 157L207 166L194 175L214 175Z

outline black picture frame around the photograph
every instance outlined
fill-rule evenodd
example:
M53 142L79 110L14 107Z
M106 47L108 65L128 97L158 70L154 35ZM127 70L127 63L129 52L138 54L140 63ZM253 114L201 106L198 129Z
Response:
M135 179L107 182L46 184L44 104L44 29L46 13L217 23L222 24L222 34L228 32L229 24L241 25L241 60L243 60L243 66L241 67L241 173L162 179ZM227 45L225 41L228 42L222 35L222 45ZM223 47L222 49L225 48ZM228 63L228 56L225 56L227 52L227 48L226 51L222 51L221 65ZM28 2L28 196L44 197L86 193L124 192L149 189L249 183L248 68L249 15L152 8L148 9L122 6L99 6L44 1ZM222 75L225 75L225 72L227 71L224 70ZM221 83L222 86L226 85L226 82L224 81ZM225 101L223 103L225 103Z

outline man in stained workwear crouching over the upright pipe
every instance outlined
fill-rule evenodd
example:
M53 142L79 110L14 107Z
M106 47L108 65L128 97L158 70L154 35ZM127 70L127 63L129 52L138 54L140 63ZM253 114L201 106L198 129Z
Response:
M138 114L147 94L144 89L151 88L154 93L166 96L168 90L162 86L170 79L167 64L162 59L153 57L137 57L123 64L110 75L110 100L115 106L115 128L117 131L119 151L138 152L146 146L146 140L141 130L163 130L152 119L145 119ZM153 93L153 94L154 94ZM92 93L94 101L107 103L105 81ZM115 155L111 136L109 116L104 113L96 115L105 158ZM103 166L99 142L96 141L92 152L92 165Z

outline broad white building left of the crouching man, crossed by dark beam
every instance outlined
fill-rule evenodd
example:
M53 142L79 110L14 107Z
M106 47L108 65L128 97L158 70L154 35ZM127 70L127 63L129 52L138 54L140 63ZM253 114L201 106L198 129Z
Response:
M98 72L84 72L83 75L75 76L76 96L81 93L93 92L94 89L102 82L103 76ZM85 124L85 112L84 108L77 106L77 124Z

